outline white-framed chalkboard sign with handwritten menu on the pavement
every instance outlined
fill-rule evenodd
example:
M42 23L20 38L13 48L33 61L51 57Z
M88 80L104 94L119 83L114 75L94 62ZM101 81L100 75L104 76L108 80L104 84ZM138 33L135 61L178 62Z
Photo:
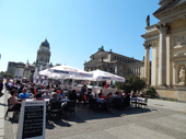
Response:
M46 102L22 103L18 139L45 139Z

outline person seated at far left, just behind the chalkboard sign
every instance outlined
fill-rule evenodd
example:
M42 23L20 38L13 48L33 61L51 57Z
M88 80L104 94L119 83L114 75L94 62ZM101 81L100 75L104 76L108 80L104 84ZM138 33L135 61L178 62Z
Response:
M14 111L19 111L20 112L20 108L21 108L21 102L19 102L15 97L16 95L16 91L15 90L12 90L10 92L11 96L9 97L10 100L10 108L11 109L14 109Z

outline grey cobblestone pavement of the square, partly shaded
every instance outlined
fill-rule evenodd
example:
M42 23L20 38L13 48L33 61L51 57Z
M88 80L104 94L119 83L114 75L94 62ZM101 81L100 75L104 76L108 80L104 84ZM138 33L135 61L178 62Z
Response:
M68 114L67 118L47 120L46 139L186 139L185 106L159 100L149 100L149 108L115 112L80 106L74 118ZM15 138L19 124L10 119L4 125L4 139Z

